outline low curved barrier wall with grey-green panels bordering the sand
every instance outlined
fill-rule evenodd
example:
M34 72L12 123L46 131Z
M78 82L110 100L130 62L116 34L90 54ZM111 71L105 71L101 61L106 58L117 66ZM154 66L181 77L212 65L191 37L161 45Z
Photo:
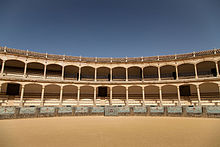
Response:
M220 106L203 107L0 107L0 119L53 117L53 116L183 116L183 117L220 117Z

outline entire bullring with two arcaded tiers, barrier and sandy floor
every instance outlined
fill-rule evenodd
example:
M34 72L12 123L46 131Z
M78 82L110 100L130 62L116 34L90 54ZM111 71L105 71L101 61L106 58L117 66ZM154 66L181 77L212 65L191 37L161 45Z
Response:
M0 59L0 146L220 146L220 49Z

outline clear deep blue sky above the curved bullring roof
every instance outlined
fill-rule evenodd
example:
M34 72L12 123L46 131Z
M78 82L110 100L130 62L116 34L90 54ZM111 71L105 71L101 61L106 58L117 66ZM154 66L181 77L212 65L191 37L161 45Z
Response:
M220 48L220 0L0 0L0 46L86 57Z

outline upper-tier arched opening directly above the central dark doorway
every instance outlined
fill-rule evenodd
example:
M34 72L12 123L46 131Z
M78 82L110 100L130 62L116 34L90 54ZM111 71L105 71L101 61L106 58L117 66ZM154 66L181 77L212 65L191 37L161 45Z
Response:
M110 81L110 69L107 67L97 68L97 81Z

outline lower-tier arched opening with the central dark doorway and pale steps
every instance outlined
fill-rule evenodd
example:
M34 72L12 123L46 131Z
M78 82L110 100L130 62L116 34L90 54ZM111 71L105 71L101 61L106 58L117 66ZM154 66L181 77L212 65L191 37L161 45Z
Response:
M110 88L106 86L99 86L96 88L96 104L105 106L109 105Z

